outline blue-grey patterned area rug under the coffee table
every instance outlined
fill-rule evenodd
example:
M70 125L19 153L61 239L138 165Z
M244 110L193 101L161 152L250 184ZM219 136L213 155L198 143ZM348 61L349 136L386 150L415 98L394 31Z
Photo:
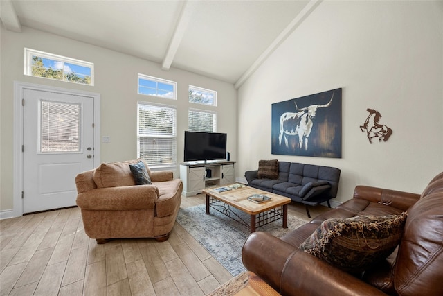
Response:
M247 214L237 209L233 210L244 220L249 221ZM242 247L250 234L247 227L215 209L211 209L210 215L206 215L205 204L180 209L177 222L201 243L231 275L236 276L246 270L242 263ZM288 215L288 228L282 228L282 220L277 220L258 227L257 231L281 237L305 223L307 223L306 220Z

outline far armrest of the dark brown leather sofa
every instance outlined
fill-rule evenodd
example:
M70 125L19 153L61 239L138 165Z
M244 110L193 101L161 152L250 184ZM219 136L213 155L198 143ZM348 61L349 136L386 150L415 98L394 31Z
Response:
M417 193L377 188L372 186L356 186L354 198L369 200L370 202L392 202L391 207L406 211L420 198Z

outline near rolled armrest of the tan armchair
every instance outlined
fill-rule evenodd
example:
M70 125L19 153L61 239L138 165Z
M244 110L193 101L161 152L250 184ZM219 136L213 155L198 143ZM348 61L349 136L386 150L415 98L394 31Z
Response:
M92 189L77 195L80 209L125 211L154 209L159 189L154 185L134 185Z

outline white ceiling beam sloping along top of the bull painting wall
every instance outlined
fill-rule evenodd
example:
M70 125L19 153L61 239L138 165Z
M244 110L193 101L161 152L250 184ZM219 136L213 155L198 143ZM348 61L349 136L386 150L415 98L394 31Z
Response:
M258 57L257 60L255 60L255 62L253 62L253 64L251 64L251 67L249 67L243 73L243 75L237 80L237 82L235 82L235 84L234 84L235 89L238 89L239 87L241 87L243 85L243 83L255 72L255 70L257 70L258 67L260 67L260 65L267 58L269 58L269 55L271 55L271 53L273 53L275 51L275 49L277 49L278 46L280 46L280 44L282 44L282 42L284 42L284 40L286 40L287 37L289 37L289 35L291 35L291 33L294 30L296 30L296 28L298 26L300 26L300 24L311 14L311 12L314 11L314 9L316 9L316 7L322 1L323 0L311 0L311 1L309 1L309 3L307 3L305 8L303 8L300 11L300 13L298 13L298 15L296 15L296 17L291 21L291 23L289 23L289 25L286 28L284 28L282 33L280 33L280 35L278 35L277 38L275 38L275 40L262 53L262 55L260 55L260 57Z

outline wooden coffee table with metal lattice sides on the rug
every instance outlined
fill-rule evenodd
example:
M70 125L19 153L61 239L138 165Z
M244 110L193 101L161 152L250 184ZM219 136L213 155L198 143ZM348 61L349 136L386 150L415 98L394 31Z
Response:
M236 186L241 186L235 188ZM229 189L228 191L218 192L221 188ZM218 190L218 191L217 191ZM206 194L206 214L210 214L210 208L233 218L246 227L250 227L251 233L255 232L256 227L269 224L275 220L282 219L282 227L288 227L288 204L291 198L285 198L260 189L255 189L242 184L233 184L229 186L214 187L204 189ZM271 198L266 202L256 203L248 200L248 197L254 194L263 194ZM242 217L235 214L230 207L235 207L240 211L244 211L251 219L248 223Z

